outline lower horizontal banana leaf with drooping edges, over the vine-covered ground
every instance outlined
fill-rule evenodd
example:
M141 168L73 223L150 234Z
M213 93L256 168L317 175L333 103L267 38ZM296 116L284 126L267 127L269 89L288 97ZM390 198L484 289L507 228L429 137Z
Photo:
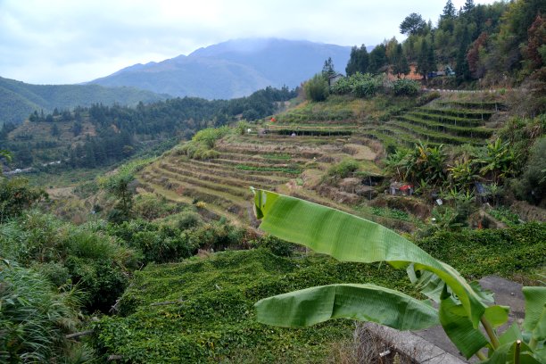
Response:
M438 325L438 312L407 294L377 285L322 285L255 304L263 324L308 327L330 318L372 321L399 330Z

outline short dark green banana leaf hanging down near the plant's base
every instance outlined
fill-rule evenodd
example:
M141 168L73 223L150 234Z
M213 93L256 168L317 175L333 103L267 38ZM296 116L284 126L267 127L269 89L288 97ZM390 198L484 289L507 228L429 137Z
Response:
M457 304L444 288L439 310L443 331L468 359L489 342L480 330L473 327L462 305Z

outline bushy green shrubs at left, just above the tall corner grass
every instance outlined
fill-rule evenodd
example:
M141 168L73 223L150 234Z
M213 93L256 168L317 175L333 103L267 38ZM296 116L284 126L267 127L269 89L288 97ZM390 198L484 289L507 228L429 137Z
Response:
M82 291L88 311L108 311L136 269L137 254L103 231L101 224L75 227L51 215L29 211L0 225L0 256Z

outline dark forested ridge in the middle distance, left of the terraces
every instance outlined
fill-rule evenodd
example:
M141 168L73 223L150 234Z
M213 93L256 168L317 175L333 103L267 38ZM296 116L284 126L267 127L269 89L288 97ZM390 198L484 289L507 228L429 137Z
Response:
M0 140L3 147L12 151L14 165L20 168L29 167L35 159L94 168L126 159L158 140L190 138L201 128L218 127L241 118L263 118L277 110L277 103L294 95L295 91L287 88L267 87L228 101L185 97L138 103L135 108L95 103L73 111L35 111L30 114L29 123L20 128L4 124Z

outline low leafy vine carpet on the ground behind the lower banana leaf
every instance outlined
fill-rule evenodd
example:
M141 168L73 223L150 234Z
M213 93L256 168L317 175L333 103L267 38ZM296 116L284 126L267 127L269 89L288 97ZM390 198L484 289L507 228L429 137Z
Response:
M317 363L330 343L352 338L350 321L289 330L256 322L254 302L309 285L373 282L404 289L389 267L324 256L279 257L266 249L227 251L206 259L150 265L136 272L120 301L121 316L95 324L104 358L132 362ZM159 302L167 304L153 305Z

